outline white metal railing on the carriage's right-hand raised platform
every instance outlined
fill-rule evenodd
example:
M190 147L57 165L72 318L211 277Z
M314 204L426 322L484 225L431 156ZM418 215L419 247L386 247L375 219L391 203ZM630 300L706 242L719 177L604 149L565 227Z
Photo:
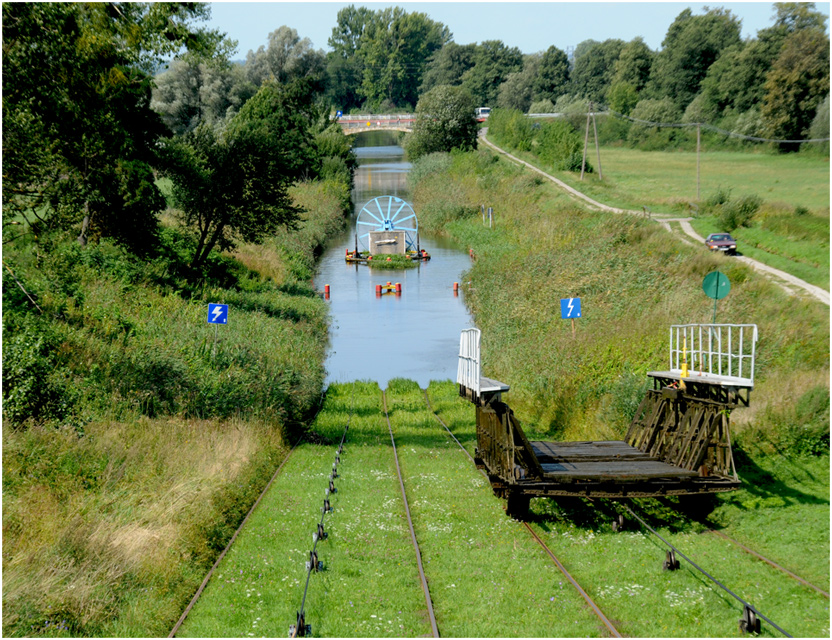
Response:
M707 374L754 386L756 348L756 324L673 325L670 370L682 370L684 355L691 376Z

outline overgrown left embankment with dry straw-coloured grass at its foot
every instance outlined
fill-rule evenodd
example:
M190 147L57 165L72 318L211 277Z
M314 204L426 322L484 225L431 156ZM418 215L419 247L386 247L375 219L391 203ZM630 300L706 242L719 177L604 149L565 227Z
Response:
M41 234L4 247L3 633L168 633L320 398L315 254L343 190L293 189L300 229L182 271ZM206 303L230 306L206 324ZM38 406L32 407L32 403ZM15 425L16 415L33 415Z

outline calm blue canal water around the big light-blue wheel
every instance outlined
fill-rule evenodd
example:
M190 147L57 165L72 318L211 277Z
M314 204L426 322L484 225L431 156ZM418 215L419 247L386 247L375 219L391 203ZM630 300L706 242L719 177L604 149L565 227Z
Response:
M431 380L455 380L460 331L474 326L461 294L453 291L470 266L468 253L447 239L422 233L421 247L431 259L418 267L391 271L347 264L344 253L355 245L355 217L367 202L393 195L412 203L410 163L404 161L395 134L358 134L355 152L360 166L353 215L348 231L323 255L315 280L318 289L330 285L326 381L375 380L383 389L393 378L415 380L422 387ZM388 281L401 283L401 295L376 297L376 285Z

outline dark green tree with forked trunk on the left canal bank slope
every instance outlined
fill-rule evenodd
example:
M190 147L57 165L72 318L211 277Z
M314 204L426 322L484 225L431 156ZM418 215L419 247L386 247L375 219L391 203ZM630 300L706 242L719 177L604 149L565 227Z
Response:
M310 134L313 94L309 79L266 82L224 130L201 124L165 141L162 173L194 231L192 268L214 247L230 249L236 237L256 242L297 220L289 186L315 177L320 165Z

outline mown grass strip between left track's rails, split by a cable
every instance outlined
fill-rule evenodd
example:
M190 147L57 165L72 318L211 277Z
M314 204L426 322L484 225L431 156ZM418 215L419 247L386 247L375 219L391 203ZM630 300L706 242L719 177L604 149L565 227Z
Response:
M317 547L324 571L311 576L306 621L318 637L429 632L381 391L375 383L355 383L329 387L313 426L329 444L302 444L295 450L180 636L288 633L300 608L312 533L351 409L337 492L330 496L333 512L324 520L329 536Z

